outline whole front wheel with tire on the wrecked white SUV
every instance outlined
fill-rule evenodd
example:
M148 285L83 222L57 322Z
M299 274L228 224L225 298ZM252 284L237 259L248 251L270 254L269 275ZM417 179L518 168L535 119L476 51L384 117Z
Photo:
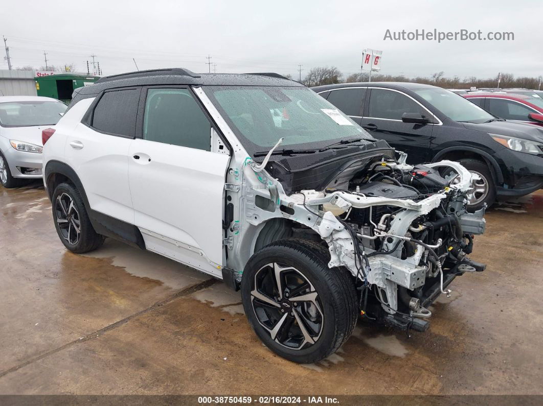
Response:
M313 241L276 241L251 256L242 301L249 323L277 355L308 364L349 338L357 320L352 276L328 267L330 254Z

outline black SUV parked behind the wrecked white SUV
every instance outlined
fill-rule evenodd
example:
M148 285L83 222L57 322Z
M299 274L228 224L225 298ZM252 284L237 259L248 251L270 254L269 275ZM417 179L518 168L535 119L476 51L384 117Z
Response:
M495 199L543 187L543 128L512 123L440 87L419 83L342 83L313 90L374 137L408 153L408 162L455 160L476 175L477 210Z

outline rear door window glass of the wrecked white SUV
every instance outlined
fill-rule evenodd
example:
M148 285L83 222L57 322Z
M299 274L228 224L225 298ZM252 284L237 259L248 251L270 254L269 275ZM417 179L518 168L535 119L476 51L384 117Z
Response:
M135 137L140 89L106 92L92 115L92 127L98 131Z

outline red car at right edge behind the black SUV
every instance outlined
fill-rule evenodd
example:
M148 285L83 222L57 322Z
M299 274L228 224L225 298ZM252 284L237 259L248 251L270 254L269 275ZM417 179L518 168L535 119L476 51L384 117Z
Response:
M538 94L469 93L463 96L497 117L543 126L543 99Z

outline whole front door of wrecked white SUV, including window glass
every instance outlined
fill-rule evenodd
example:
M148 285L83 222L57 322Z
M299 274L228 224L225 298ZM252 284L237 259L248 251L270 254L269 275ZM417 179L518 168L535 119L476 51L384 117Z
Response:
M230 156L211 152L216 128L189 88L144 92L141 138L129 153L135 224L147 249L220 275Z

